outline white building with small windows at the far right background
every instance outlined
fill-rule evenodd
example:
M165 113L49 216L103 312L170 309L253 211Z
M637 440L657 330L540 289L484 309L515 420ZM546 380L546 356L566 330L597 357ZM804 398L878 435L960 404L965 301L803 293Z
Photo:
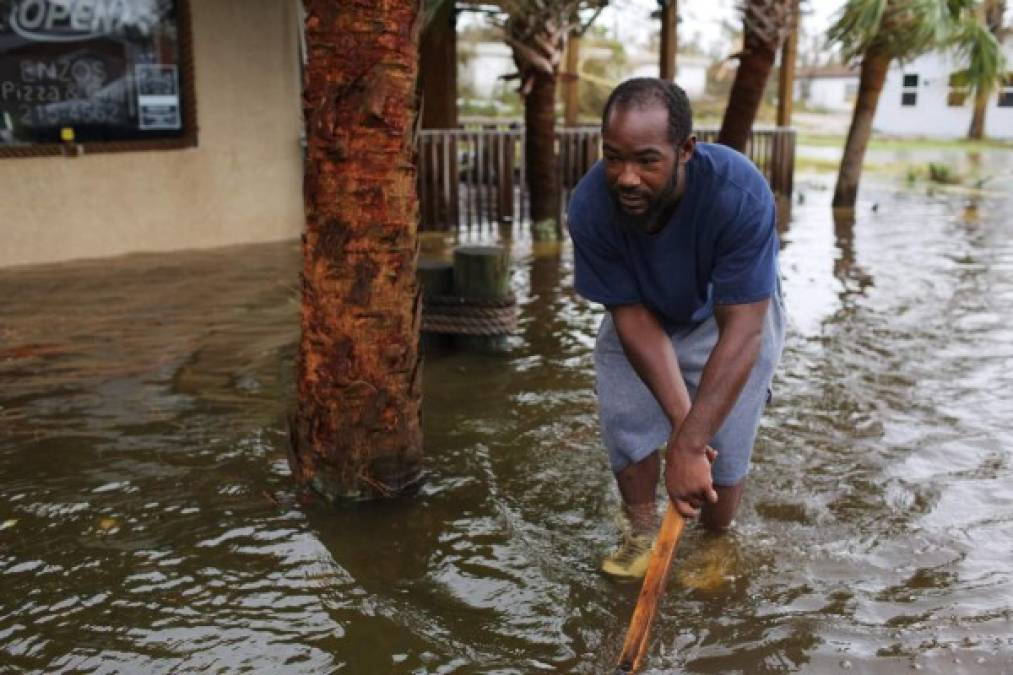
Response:
M1013 64L1013 40L1006 40L1003 51ZM874 130L894 136L965 137L975 100L954 76L962 67L948 53L894 64L879 96ZM989 96L985 136L1013 139L1013 81Z

